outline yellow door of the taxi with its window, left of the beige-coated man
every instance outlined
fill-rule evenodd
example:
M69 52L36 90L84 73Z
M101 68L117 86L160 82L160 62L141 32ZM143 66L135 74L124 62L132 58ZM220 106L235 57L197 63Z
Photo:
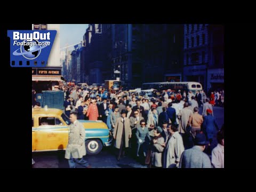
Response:
M68 126L59 117L39 117L36 131L36 150L66 149Z

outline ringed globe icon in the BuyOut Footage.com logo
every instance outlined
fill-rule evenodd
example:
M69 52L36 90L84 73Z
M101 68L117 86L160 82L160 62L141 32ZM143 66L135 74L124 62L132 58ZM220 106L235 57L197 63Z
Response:
M41 49L38 50L41 46L38 45L38 41L36 40L32 40L32 41L27 41L27 40L24 40L23 41L24 43L26 42L29 42L30 44L35 44L33 42L36 42L36 45L21 45L20 46L20 50L21 52L23 53L23 57L25 57L26 59L35 59L39 56L39 54L41 53ZM34 51L34 52L31 52L33 50L37 50L37 51Z

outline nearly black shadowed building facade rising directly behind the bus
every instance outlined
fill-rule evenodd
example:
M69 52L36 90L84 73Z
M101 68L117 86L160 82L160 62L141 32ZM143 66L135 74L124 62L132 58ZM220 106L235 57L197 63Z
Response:
M179 82L183 72L183 25L145 25L143 82Z

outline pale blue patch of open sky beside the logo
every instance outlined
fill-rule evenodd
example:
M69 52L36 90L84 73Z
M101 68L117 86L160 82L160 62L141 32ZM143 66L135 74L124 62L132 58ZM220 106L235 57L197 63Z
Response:
M60 48L83 41L88 24L60 24ZM70 47L74 50L74 46Z

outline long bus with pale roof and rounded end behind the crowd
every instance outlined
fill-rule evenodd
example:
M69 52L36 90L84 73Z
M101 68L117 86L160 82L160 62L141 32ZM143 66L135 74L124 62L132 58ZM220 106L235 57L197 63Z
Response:
M142 90L156 89L158 91L172 90L172 91L191 91L196 94L196 91L203 89L201 83L198 82L156 82L156 83L143 83Z

